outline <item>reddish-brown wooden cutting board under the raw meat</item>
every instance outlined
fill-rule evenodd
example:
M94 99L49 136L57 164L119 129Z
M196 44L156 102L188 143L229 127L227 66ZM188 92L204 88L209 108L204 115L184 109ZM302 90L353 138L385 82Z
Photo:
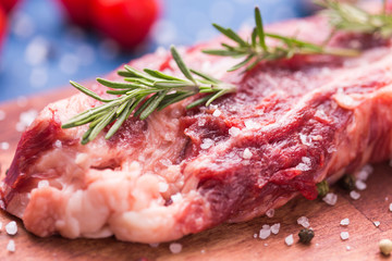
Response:
M0 144L7 141L10 148L0 146L0 173L3 178L13 158L21 133L15 130L20 114L29 109L40 110L47 103L70 96L74 90L63 89L57 92L28 98L26 101L11 101L0 104L5 119L0 121ZM382 260L378 243L382 238L392 239L392 169L388 164L375 166L367 182L367 189L360 191L360 198L353 200L348 192L333 187L339 195L334 207L320 200L308 201L298 197L277 210L272 219L266 216L241 224L223 224L212 229L189 235L177 243L182 244L181 253L173 254L169 243L152 248L149 245L122 243L114 238L106 239L65 239L59 236L38 238L26 232L23 223L5 212L0 212L3 226L17 221L19 232L9 236L0 232L0 260ZM39 211L39 210L38 210ZM315 231L310 245L298 243L301 226L296 220L305 215ZM343 227L340 221L348 217L350 225ZM373 225L375 221L380 226ZM264 224L280 223L278 235L266 240L255 239ZM342 240L341 232L348 232L350 238ZM284 238L294 234L295 243L287 247ZM16 251L9 252L7 245L14 239ZM347 250L350 247L350 250Z

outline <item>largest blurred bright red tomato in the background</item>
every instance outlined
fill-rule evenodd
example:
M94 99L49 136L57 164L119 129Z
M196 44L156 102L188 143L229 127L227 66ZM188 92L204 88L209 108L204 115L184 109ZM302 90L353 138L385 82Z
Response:
M158 0L94 0L93 23L123 48L140 44L157 20Z

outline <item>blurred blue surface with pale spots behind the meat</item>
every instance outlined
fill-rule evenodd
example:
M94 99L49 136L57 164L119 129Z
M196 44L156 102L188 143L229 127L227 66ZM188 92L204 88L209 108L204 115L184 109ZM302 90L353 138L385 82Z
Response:
M159 46L193 45L217 35L211 23L253 25L259 5L266 23L306 14L306 0L162 0L149 39L132 52L71 25L56 0L24 0L14 10L0 54L0 102L105 75Z

